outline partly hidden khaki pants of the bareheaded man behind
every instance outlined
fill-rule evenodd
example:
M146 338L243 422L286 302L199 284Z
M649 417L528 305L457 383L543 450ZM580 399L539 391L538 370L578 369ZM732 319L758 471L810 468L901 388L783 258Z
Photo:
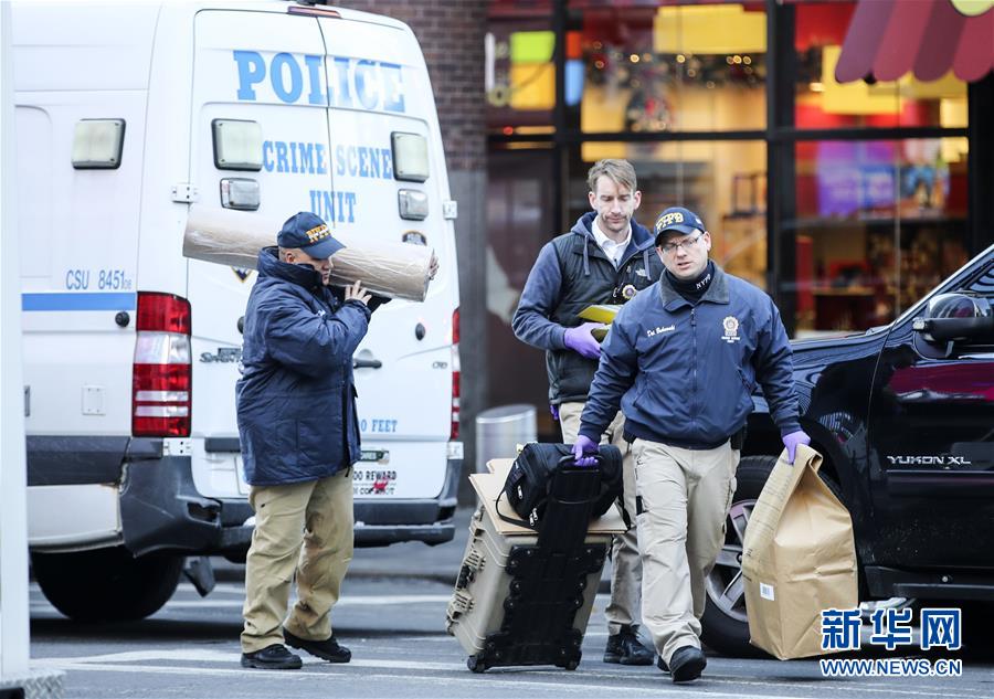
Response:
M563 444L573 444L580 432L580 414L584 403L563 403L559 406L559 424ZM617 634L622 626L639 623L639 589L642 587L642 559L638 557L638 539L635 531L635 474L632 449L624 439L625 417L621 412L614 416L601 444L613 444L621 449L624 470L625 511L632 526L623 534L614 537L611 543L611 602L604 611L607 617L607 633Z

